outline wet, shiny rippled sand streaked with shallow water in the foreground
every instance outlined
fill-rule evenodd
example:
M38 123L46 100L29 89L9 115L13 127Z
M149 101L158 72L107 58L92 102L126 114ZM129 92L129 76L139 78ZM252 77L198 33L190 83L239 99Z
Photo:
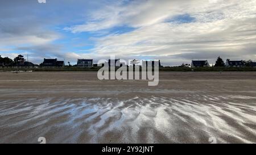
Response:
M256 143L256 97L0 100L0 143Z

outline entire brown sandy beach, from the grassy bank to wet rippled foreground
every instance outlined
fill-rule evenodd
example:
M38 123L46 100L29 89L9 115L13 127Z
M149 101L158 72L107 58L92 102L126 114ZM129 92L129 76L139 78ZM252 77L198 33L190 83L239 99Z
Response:
M0 143L256 143L256 72L0 72Z

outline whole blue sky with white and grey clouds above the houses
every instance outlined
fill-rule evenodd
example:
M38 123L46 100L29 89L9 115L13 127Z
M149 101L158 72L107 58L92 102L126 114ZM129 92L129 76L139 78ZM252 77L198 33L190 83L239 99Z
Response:
M256 0L0 0L0 55L256 60Z

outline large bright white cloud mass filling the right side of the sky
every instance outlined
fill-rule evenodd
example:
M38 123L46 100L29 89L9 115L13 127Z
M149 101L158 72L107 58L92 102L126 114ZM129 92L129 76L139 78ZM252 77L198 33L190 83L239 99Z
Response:
M94 18L99 20L71 28L72 32L122 25L137 28L98 38L96 56L148 56L170 61L182 53L200 51L201 58L211 61L218 55L254 56L242 50L256 41L256 1L136 1L110 8L94 12ZM105 11L108 14L102 13ZM195 21L166 22L183 14L189 14ZM180 57L180 61L196 58L189 56Z

